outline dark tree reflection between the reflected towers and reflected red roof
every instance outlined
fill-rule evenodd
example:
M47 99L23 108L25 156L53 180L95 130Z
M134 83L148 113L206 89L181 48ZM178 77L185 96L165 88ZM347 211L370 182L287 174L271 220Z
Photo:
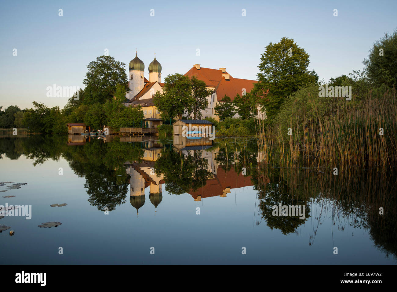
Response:
M160 158L156 161L156 173L164 175L165 189L171 194L183 194L189 190L197 190L206 184L212 175L206 162L200 158L200 151L194 150L193 154L183 154L170 149L163 149Z

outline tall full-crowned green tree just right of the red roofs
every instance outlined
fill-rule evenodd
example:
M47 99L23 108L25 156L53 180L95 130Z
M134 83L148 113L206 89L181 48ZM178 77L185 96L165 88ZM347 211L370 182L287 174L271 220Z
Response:
M258 82L251 93L263 99L262 111L269 118L274 117L285 98L318 80L314 70L307 70L309 63L309 55L292 38L283 37L266 46L258 65Z

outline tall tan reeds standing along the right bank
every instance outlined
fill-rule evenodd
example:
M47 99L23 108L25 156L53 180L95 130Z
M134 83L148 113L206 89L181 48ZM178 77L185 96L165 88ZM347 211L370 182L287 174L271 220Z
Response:
M258 148L272 165L353 165L393 167L397 163L397 99L395 89L379 98L329 109L293 111L286 136L279 124L256 125ZM383 135L380 134L383 128ZM287 137L287 141L285 140Z

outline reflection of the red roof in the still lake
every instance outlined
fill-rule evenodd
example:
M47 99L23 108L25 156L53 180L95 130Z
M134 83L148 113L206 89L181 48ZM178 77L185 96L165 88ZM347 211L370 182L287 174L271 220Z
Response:
M216 177L214 179L208 179L204 187L198 188L194 192L189 192L193 199L196 200L198 196L201 196L201 198L222 196L226 188L242 188L244 186L253 185L251 176L244 176L241 174L241 171L236 173L234 171L234 166L227 172L225 172L223 167L224 166L218 166Z

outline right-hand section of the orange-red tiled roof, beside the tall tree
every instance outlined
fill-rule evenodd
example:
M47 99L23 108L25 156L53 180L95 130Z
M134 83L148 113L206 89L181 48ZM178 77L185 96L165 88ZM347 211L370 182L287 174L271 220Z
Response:
M218 102L221 102L225 95L229 96L230 100L233 101L237 94L240 96L243 94L243 88L245 88L246 92L250 92L254 88L254 83L257 82L256 80L239 79L231 76L229 80L226 80L225 77L222 77L214 92L216 92Z

